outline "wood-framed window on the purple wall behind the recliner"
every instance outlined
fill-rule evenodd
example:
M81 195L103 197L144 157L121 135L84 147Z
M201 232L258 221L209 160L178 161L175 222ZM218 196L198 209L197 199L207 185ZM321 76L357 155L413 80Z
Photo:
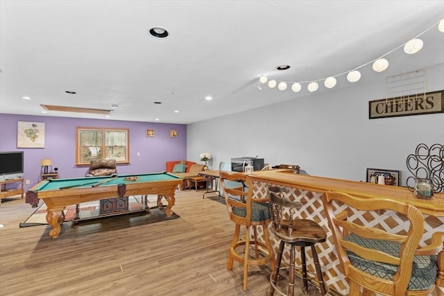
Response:
M76 165L102 158L130 162L128 134L128 128L77 128Z

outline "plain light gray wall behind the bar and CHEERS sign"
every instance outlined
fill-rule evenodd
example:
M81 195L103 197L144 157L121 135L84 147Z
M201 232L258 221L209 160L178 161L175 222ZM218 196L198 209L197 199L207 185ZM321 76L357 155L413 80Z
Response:
M426 92L444 89L444 64L425 72ZM384 75L363 77L343 89L189 124L187 159L210 153L216 169L231 157L258 155L268 164L298 164L310 175L348 180L366 180L366 168L386 168L401 171L405 186L406 159L416 146L444 143L444 114L370 120L368 101L386 98L385 85Z

